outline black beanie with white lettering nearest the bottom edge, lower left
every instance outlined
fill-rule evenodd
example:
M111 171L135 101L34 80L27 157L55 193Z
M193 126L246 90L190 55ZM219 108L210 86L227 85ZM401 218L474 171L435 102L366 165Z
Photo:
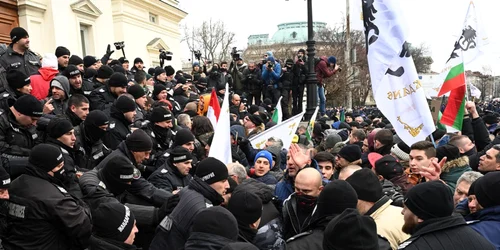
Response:
M132 232L135 216L118 202L105 202L92 210L92 231L95 235L124 242Z

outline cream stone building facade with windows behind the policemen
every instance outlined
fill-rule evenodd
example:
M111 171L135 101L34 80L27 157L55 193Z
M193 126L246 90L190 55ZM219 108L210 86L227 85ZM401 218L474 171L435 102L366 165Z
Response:
M146 67L157 66L159 50L164 49L174 54L166 64L176 68L181 66L176 57L181 54L179 23L187 15L178 4L178 0L0 0L0 20L11 23L0 27L0 42L9 43L10 29L21 26L30 35L31 50L41 55L65 46L82 58L100 58L111 44L115 50L111 57L117 59L123 53L113 44L123 41L131 63L141 57Z

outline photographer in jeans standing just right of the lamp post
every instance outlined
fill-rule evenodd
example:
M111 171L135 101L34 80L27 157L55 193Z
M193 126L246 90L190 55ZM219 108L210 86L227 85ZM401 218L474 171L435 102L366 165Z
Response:
M318 78L318 96L319 96L319 112L321 116L326 114L326 98L325 98L325 87L323 85L323 79L333 76L337 71L340 71L340 67L337 65L337 58L334 56L326 58L326 56L320 57L318 63L314 67L316 72L316 77Z

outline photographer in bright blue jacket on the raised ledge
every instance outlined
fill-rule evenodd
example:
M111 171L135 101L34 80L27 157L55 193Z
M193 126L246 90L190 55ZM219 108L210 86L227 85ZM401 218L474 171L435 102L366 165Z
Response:
M268 56L267 63L262 65L262 80L264 81L264 99L269 98L273 104L278 102L281 92L278 89L278 82L281 77L281 65Z

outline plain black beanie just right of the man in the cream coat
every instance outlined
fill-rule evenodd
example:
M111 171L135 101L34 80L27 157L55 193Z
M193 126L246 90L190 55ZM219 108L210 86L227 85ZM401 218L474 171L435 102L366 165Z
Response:
M406 193L404 202L422 220L447 217L453 213L453 194L441 181L415 185Z

